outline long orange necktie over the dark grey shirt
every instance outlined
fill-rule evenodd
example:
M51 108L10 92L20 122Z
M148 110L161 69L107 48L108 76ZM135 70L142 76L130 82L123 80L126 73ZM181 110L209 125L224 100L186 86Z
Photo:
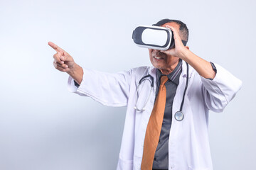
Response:
M167 76L161 77L159 93L154 103L153 111L149 118L149 123L146 127L146 136L144 140L144 149L142 157L142 170L151 170L153 166L154 154L159 142L161 125L164 119L164 108L166 104L166 86Z

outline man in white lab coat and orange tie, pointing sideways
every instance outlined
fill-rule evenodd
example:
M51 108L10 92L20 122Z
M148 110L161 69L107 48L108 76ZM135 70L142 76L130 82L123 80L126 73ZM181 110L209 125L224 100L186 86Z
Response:
M186 24L164 19L156 26L173 30L175 48L149 49L152 67L117 74L97 72L80 67L68 52L48 42L56 51L54 67L70 75L70 91L90 96L105 106L127 106L117 169L213 169L208 112L222 112L242 82L183 45L181 40L188 40ZM159 105L161 109L157 108ZM156 130L156 124L151 121L159 115L161 125ZM157 131L156 136L152 135L153 131ZM148 152L152 148L154 152Z

